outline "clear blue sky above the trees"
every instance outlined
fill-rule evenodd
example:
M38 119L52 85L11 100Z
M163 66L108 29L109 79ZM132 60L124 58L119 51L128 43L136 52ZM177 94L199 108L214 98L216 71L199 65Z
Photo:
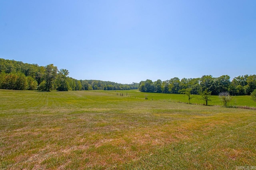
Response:
M256 0L1 0L0 58L118 83L256 74Z

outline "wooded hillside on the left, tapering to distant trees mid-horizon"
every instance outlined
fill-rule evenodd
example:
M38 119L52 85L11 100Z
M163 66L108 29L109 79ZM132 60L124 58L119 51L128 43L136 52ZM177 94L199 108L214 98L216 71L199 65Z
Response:
M138 89L138 83L119 84L100 80L76 80L68 76L66 69L54 64L38 66L21 61L0 59L0 88L10 90L130 90Z

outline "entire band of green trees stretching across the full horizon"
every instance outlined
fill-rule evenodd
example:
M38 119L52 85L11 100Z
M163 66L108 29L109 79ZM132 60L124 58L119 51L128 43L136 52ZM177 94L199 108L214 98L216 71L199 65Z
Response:
M162 81L141 81L140 83L118 84L101 80L76 80L68 76L66 69L58 69L53 64L38 66L21 61L0 59L0 88L10 90L130 90L141 92L182 94L189 90L191 94L210 92L218 95L229 92L231 95L250 95L256 89L256 75L243 75L230 81L230 76L201 78L171 78Z

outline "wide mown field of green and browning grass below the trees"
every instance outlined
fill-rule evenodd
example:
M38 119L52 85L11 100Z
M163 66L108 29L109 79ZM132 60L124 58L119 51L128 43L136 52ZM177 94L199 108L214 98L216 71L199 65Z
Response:
M255 110L121 92L0 90L0 169L256 166ZM234 100L255 107L249 96Z

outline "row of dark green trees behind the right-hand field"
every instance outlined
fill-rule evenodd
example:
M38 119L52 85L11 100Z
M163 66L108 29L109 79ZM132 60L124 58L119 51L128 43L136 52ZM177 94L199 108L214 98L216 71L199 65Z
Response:
M213 77L204 75L201 78L171 78L162 81L152 80L141 81L139 90L141 92L184 94L186 89L191 94L210 92L210 95L218 95L221 92L229 92L230 95L250 95L256 89L256 75L243 75L235 77L230 81L230 76L223 75Z

